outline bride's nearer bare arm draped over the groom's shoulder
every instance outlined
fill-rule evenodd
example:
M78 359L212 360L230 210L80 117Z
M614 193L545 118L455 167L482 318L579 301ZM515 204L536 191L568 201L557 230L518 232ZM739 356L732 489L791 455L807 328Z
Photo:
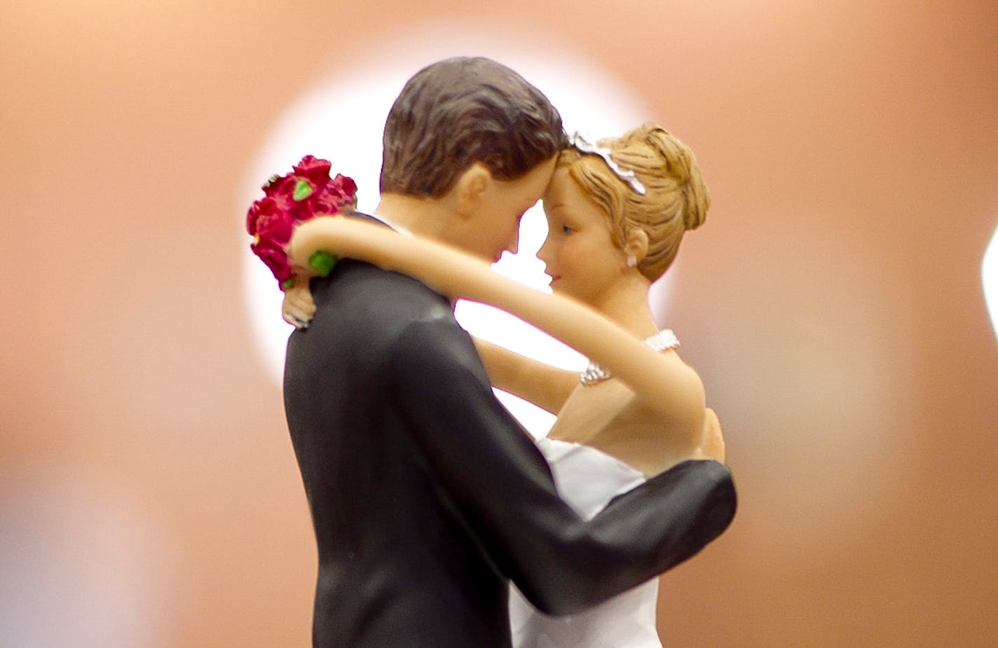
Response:
M704 429L704 388L675 353L660 354L583 304L507 279L484 261L440 243L345 216L298 225L288 244L292 263L327 250L416 277L451 298L513 313L613 372L675 426ZM542 406L543 407L543 406Z

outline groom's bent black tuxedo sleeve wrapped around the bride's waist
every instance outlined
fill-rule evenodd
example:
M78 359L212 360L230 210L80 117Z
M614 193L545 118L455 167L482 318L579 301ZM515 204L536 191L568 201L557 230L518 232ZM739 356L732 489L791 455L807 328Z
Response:
M538 609L571 614L691 557L735 514L731 474L691 461L582 520L533 441L495 399L467 334L414 322L396 339L388 395L441 497Z

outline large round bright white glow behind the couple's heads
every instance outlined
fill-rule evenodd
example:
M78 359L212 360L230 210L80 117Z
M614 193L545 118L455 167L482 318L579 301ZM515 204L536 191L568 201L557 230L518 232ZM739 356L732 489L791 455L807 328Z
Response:
M633 91L591 61L564 55L568 48L558 48L557 44L502 42L499 35L483 37L481 25L475 25L474 30L460 24L422 26L411 33L419 34L418 41L396 40L396 48L365 61L362 69L322 80L287 109L250 163L239 193L241 209L261 195L259 186L267 177L289 171L294 162L310 154L331 161L334 173L353 177L358 186L358 207L361 211L373 210L381 167L381 132L392 102L405 81L420 68L451 56L487 56L513 68L551 99L569 133L578 129L596 137L620 135L655 119ZM472 33L474 42L467 38ZM483 45L486 41L489 45ZM495 264L496 270L547 290L548 277L535 257L546 233L544 213L538 205L524 216L518 253L505 254ZM276 281L250 252L249 237L244 234L240 240L253 334L261 361L279 385L291 328L280 318L281 293ZM668 280L660 283L663 285L656 286L655 301L661 305ZM579 354L501 311L461 302L456 314L462 326L474 335L524 355L568 369L585 365ZM552 415L520 399L503 393L499 397L535 435L544 434L554 421Z

